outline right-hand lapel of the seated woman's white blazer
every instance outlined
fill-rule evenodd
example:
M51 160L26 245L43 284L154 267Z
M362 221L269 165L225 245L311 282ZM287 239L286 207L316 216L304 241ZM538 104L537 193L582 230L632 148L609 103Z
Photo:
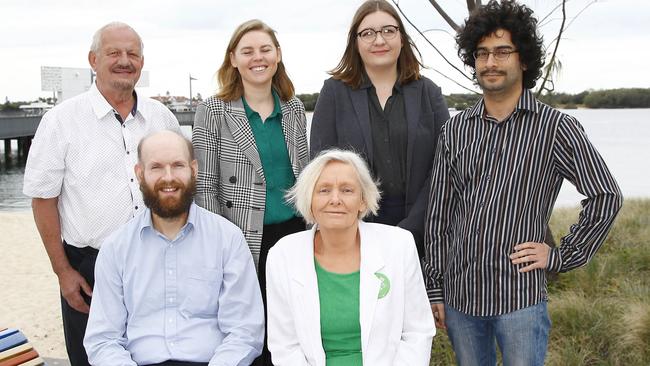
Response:
M359 221L361 237L361 267L359 269L359 322L361 324L361 350L368 349L368 339L375 316L375 306L382 280L375 275L384 267L384 258L377 248L373 248L381 238L376 238L368 224Z

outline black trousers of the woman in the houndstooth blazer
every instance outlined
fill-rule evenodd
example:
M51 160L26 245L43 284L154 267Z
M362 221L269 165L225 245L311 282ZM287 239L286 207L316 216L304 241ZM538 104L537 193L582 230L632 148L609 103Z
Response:
M264 225L264 231L262 232L262 247L260 248L260 260L257 265L257 278L260 282L260 289L262 290L262 300L264 301L264 319L266 319L266 257L269 254L269 249L271 249L275 243L278 242L282 237L289 234L297 233L299 231L305 230L305 222L300 217L294 217L293 219L281 222L279 224ZM267 329L265 324L265 332ZM272 366L271 363L271 352L267 346L267 335L264 335L264 349L262 349L262 355L255 359L253 366Z

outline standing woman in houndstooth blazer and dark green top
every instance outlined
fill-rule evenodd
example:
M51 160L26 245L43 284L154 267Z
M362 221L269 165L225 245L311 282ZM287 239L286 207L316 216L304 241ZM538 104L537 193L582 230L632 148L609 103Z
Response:
M259 20L235 30L218 79L219 92L199 104L192 130L196 203L243 231L264 296L268 250L305 228L284 200L309 160L305 109L273 29ZM255 365L271 365L266 347Z

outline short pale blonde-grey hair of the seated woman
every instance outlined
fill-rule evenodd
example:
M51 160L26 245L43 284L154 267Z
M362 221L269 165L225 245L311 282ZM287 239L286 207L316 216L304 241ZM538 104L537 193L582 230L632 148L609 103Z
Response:
M359 185L361 186L361 198L366 204L366 209L360 213L359 218L369 214L377 215L379 211L379 199L381 193L377 187L378 183L372 179L370 169L365 160L357 153L347 150L330 149L322 151L312 160L296 180L296 184L287 192L285 198L292 203L308 224L314 224L314 215L311 211L311 200L325 166L331 162L341 162L350 165L357 173Z

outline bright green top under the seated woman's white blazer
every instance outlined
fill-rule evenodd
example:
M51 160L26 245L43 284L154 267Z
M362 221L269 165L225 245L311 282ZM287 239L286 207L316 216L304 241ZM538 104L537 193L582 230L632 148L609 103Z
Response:
M320 300L320 333L327 366L361 366L359 271L333 273L314 258Z

